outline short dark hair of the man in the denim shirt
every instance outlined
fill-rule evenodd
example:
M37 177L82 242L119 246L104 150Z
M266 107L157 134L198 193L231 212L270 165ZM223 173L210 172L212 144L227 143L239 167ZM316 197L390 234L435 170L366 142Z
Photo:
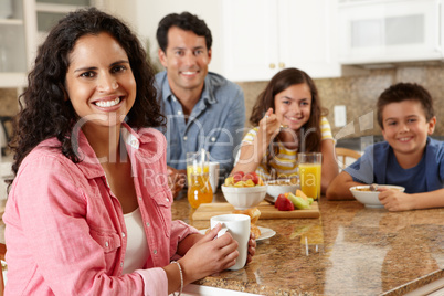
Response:
M204 36L207 50L211 50L213 39L207 23L199 19L198 15L191 14L190 12L182 12L180 14L170 13L160 20L156 38L162 52L166 52L168 47L168 31L171 27L178 27L184 31L192 31L198 36Z

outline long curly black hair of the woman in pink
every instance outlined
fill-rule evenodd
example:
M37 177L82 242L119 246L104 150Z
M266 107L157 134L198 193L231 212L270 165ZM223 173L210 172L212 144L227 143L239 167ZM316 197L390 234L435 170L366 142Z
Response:
M84 35L110 34L125 50L137 84L136 101L126 121L134 128L165 126L157 98L155 72L137 36L117 18L96 8L68 13L51 30L39 47L34 67L28 75L28 87L20 95L10 147L14 152L12 170L17 175L24 157L41 141L56 137L62 154L81 161L71 141L76 113L67 97L65 78L68 55ZM12 180L11 180L12 182Z

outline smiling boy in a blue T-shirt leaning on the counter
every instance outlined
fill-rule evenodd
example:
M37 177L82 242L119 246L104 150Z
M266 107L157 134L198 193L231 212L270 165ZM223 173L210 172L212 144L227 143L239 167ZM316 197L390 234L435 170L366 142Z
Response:
M430 93L422 86L398 83L378 98L378 124L385 141L377 142L330 183L328 200L352 200L353 186L378 183L379 199L390 211L444 207L444 146L429 136L436 117Z

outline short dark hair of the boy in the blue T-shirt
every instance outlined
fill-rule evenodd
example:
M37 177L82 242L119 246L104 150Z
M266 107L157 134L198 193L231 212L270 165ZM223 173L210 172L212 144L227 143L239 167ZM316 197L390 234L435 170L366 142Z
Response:
M416 83L398 83L383 91L378 98L378 124L381 129L384 129L382 125L382 110L384 107L391 103L400 103L409 99L421 104L427 121L435 116L433 99L427 89Z

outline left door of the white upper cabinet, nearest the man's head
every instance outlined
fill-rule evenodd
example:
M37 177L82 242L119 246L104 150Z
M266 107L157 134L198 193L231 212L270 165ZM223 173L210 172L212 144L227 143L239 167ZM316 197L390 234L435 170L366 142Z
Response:
M277 6L269 0L224 0L222 74L267 81L277 68Z

